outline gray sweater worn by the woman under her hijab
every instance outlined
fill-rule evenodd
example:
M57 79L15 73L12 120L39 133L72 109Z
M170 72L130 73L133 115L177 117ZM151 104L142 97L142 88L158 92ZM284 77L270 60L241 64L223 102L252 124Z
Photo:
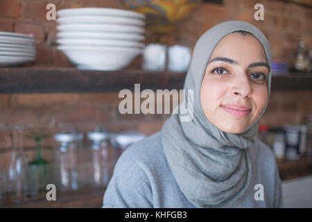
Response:
M252 166L245 193L229 207L282 207L281 180L270 148L257 139L248 148ZM262 186L261 186L262 185ZM103 207L191 208L162 150L161 132L127 148L114 168Z

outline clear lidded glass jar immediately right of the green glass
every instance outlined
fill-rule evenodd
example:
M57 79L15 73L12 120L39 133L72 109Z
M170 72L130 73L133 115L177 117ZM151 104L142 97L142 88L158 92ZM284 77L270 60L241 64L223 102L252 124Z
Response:
M77 190L83 185L81 178L80 151L83 133L64 130L54 135L58 142L58 178L61 191Z

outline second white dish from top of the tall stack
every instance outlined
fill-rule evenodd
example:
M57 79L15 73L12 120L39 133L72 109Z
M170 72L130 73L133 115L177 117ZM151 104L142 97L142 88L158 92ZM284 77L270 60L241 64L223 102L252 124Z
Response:
M73 23L104 23L104 24L130 24L133 26L144 26L145 22L141 19L134 19L128 17L118 17L118 16L69 16L60 17L56 19L59 24L73 24Z

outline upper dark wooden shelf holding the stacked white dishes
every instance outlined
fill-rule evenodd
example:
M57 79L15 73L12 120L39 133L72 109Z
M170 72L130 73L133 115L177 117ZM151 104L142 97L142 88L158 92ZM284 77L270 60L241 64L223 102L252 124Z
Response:
M55 92L119 92L140 89L182 89L185 73L169 71L91 71L74 67L0 68L0 94ZM312 74L272 76L272 90L312 89Z

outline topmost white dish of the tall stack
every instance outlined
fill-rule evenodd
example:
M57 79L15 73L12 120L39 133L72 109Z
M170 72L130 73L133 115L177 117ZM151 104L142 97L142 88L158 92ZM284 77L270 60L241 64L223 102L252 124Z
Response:
M56 12L56 15L58 15L58 17L75 15L115 15L145 19L145 15L139 12L132 12L130 10L122 10L117 8L66 8L58 10L58 12Z

